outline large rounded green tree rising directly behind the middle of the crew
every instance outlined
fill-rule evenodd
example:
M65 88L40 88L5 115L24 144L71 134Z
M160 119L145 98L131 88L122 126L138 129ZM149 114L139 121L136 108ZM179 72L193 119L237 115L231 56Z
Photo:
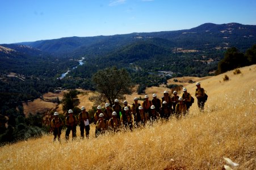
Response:
M124 94L131 93L132 79L125 69L116 67L99 70L93 75L96 90L112 105L115 99L124 99Z

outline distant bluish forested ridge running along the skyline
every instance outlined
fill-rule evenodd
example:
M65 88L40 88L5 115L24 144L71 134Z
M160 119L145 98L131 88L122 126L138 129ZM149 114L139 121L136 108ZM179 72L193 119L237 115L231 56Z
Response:
M256 25L205 23L191 29L95 37L65 37L55 40L20 42L54 54L92 55L107 53L137 41L168 40L166 47L205 50L236 46L246 50L256 42ZM172 43L171 43L172 42ZM170 46L170 44L172 44ZM166 45L164 43L163 45Z

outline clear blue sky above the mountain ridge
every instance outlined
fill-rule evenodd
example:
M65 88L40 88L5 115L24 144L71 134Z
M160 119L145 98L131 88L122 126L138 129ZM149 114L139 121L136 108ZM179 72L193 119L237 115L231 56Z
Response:
M190 29L204 23L256 25L255 0L0 0L0 44Z

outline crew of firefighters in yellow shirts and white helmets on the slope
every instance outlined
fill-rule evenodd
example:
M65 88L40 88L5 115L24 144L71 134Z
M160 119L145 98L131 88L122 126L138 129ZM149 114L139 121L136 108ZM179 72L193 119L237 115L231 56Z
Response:
M198 107L200 111L204 109L204 103L207 100L207 95L204 89L200 87L200 82L196 83L195 96L198 99ZM206 99L205 99L206 97ZM177 118L185 116L188 113L194 98L187 92L186 88L183 88L182 97L177 95L177 91L173 92L173 96L170 97L167 91L163 92L162 101L157 98L156 94L153 94L153 100L149 100L149 96L145 95L144 101L140 104L137 97L134 98L132 107L128 105L128 102L124 100L123 107L119 104L119 100L115 99L112 108L109 103L105 104L105 109L102 111L102 107L99 105L97 111L94 114L95 137L100 134L109 131L119 131L121 128L132 130L133 128L139 128L145 126L147 122L152 124L154 121L162 118L169 119L170 116ZM66 140L69 139L70 131L72 131L72 138L76 138L76 126L79 123L81 137L84 138L84 132L86 137L89 138L90 122L91 118L89 113L86 112L85 107L81 107L81 113L77 118L73 115L72 109L68 111L69 116L65 118L66 122ZM54 139L58 137L60 141L61 129L63 122L58 117L58 113L54 113L54 118L51 122L53 129Z

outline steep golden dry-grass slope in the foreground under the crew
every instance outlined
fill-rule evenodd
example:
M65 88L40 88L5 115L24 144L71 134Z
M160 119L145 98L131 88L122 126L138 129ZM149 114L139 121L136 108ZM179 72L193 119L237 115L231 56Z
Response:
M238 75L225 73L228 82L223 81L224 74L201 81L209 96L203 113L194 103L190 114L181 120L171 118L133 132L94 138L91 126L91 138L86 140L65 142L62 131L61 144L53 143L52 135L44 135L6 145L0 148L0 167L221 169L225 156L240 164L233 169L255 169L256 65L240 70ZM186 88L194 96L195 83ZM77 134L79 137L79 127Z

